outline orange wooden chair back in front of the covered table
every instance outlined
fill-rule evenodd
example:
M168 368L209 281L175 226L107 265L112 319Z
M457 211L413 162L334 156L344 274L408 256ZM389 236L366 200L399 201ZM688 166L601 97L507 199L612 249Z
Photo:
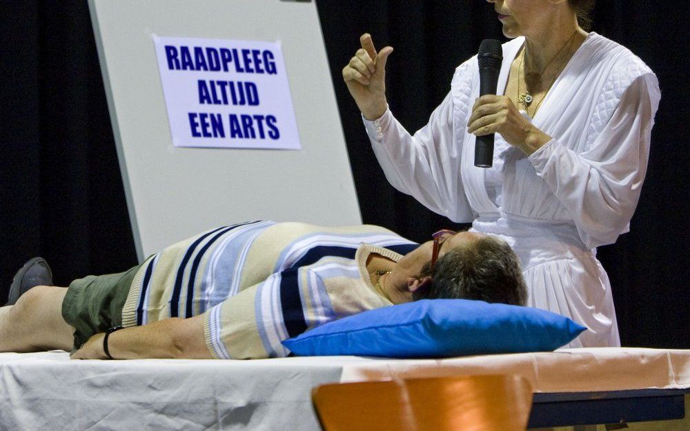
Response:
M532 389L518 376L333 383L312 390L326 431L525 430Z

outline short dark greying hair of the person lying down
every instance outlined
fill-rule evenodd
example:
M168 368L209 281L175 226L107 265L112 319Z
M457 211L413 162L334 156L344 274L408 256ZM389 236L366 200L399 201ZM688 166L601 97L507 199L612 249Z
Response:
M510 246L494 237L459 245L436 262L433 274L426 263L421 277L432 276L431 286L414 299L479 299L525 305L527 287L520 260Z

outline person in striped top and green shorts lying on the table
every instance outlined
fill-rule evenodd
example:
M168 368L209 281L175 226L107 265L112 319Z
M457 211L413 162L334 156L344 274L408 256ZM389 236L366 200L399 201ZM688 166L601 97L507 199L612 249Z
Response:
M199 234L122 272L52 286L32 259L0 308L0 352L72 359L257 359L364 310L428 298L524 305L509 246L443 230L417 244L375 225L255 221ZM122 328L124 327L124 328Z

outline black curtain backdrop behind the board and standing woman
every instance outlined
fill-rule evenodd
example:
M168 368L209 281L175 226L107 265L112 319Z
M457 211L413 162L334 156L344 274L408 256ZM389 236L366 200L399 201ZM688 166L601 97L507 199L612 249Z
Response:
M455 66L481 39L502 39L480 0L320 0L328 58L365 223L416 241L452 227L388 186L340 70L371 32L388 61L388 97L414 131L449 90ZM593 30L638 54L658 74L662 102L632 232L599 249L623 345L690 348L687 192L690 110L686 8L676 2L600 0ZM136 263L115 143L86 1L0 5L0 303L34 255L55 281L119 272Z

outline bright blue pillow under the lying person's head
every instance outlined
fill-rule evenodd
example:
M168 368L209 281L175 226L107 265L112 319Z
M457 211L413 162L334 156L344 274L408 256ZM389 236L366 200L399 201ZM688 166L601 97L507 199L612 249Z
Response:
M302 356L455 357L551 351L585 329L537 308L423 299L325 323L283 345Z

